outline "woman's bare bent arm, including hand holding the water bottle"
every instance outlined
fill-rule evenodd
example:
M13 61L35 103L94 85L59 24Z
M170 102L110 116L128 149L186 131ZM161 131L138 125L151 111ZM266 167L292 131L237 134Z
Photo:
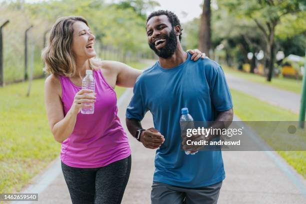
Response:
M73 104L67 114L63 114L63 106L60 99L61 85L59 79L51 74L44 83L44 101L46 107L47 118L54 139L59 143L68 138L75 125L76 115L81 107L90 107L91 105L81 104L82 102L93 102L94 96L82 95L84 92L92 92L91 90L82 89L76 93Z

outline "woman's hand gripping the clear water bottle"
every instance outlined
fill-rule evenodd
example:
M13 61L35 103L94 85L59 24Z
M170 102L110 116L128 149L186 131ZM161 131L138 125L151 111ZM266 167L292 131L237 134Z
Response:
M77 114L79 113L80 108L91 107L92 104L87 104L87 103L94 103L96 99L95 95L96 93L93 93L93 91L90 89L81 89L74 96L74 100L70 108L71 111L74 114Z

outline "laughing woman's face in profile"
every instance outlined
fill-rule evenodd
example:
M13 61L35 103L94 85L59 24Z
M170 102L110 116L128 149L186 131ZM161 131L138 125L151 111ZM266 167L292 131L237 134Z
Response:
M89 59L96 55L93 42L94 35L91 34L89 27L82 21L72 24L72 52L76 58Z

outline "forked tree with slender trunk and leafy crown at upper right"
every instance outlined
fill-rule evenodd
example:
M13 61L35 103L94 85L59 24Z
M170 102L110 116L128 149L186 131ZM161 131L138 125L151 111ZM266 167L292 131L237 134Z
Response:
M232 13L253 20L263 33L266 43L267 81L270 81L275 61L275 27L280 23L282 17L305 10L306 2L300 0L226 0L224 4Z

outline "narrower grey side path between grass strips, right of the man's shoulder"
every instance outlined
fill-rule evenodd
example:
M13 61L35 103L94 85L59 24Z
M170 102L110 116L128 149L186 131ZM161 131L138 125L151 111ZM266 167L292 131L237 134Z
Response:
M229 73L226 73L226 79L230 88L252 95L272 105L277 105L296 113L299 112L300 94L245 80Z

